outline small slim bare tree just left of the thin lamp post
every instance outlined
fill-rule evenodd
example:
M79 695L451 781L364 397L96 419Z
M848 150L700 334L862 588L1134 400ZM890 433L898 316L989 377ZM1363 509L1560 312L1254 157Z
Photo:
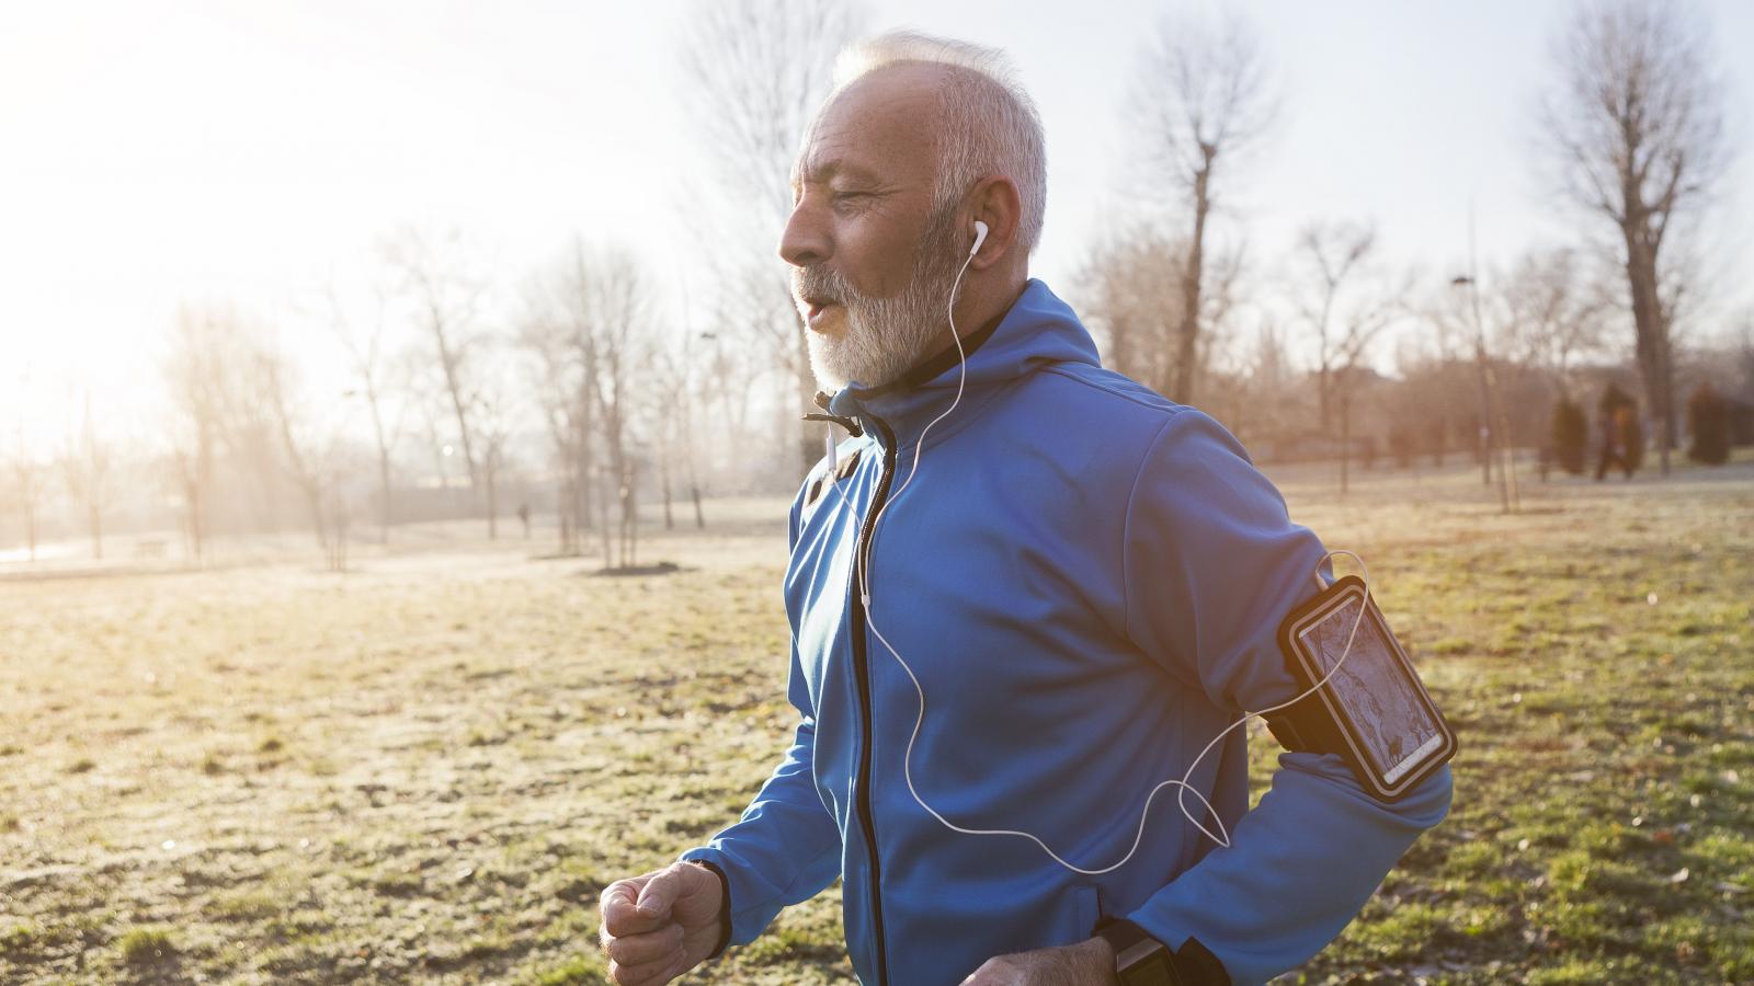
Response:
M1352 405L1370 346L1405 311L1403 284L1370 267L1377 233L1349 223L1312 223L1298 233L1303 267L1298 314L1316 342L1321 430L1340 423L1340 493L1349 486Z

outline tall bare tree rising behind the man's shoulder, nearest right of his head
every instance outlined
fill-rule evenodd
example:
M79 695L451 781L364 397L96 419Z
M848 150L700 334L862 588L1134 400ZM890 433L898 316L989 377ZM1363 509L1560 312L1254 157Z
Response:
M1209 223L1223 202L1221 186L1231 181L1235 163L1259 142L1277 109L1254 28L1235 14L1217 25L1165 18L1142 63L1135 107L1152 167L1175 182L1187 209L1168 397L1189 404L1205 328Z

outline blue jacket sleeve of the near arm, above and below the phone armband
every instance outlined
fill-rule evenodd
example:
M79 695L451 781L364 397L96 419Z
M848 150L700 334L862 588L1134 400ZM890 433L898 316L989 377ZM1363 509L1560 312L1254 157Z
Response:
M1126 633L1145 654L1219 709L1296 697L1277 628L1317 591L1326 549L1205 414L1177 411L1158 432L1123 551ZM1170 947L1198 939L1235 982L1261 982L1333 940L1414 839L1444 819L1449 798L1449 767L1384 804L1338 756L1286 753L1272 790L1231 826L1230 847L1128 918Z

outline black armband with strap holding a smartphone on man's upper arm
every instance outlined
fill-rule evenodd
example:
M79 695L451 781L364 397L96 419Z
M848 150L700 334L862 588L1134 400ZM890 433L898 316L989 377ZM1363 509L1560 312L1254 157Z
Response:
M1340 754L1359 784L1384 802L1398 800L1456 756L1454 730L1359 577L1338 579L1294 609L1279 626L1279 646L1300 693L1333 672L1319 691L1266 718L1287 749Z

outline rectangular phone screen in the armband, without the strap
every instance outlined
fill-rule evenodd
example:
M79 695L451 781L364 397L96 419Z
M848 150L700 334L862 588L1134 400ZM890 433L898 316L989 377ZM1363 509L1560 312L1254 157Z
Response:
M1444 746L1444 733L1382 632L1375 609L1365 611L1352 649L1345 649L1361 602L1361 597L1347 598L1298 637L1321 661L1324 677L1340 663L1328 688L1370 767L1386 784L1394 784Z

